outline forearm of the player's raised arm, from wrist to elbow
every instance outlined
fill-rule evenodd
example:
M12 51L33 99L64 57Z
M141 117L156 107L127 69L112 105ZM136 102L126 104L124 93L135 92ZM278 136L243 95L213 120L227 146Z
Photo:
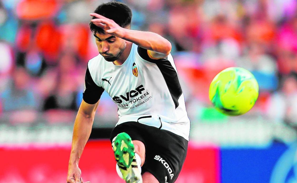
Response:
M122 39L133 42L144 49L166 55L170 53L172 47L167 39L153 32L125 29Z

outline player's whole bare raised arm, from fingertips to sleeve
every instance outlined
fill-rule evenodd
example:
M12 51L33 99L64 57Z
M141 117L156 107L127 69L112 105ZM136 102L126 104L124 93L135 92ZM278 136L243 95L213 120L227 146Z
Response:
M151 58L164 58L169 55L171 51L171 43L159 34L130 30L129 28L119 26L113 20L97 13L91 13L90 15L96 17L95 19L92 19L91 22L102 28L105 31L105 34L120 37L149 50L148 54Z

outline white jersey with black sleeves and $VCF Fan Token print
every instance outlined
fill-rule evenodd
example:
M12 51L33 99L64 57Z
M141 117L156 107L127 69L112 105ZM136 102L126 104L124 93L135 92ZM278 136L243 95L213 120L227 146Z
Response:
M189 140L190 120L171 54L154 60L133 43L120 66L97 55L88 63L83 100L95 104L104 90L118 105L117 125L140 122Z

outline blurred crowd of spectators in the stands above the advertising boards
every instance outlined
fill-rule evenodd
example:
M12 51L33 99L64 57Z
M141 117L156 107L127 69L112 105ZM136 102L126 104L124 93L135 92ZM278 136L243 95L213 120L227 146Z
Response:
M41 113L46 122L73 122L67 116L77 112L87 62L98 54L89 13L102 2L107 1L0 1L0 119L9 113L12 124L30 123ZM156 32L172 43L192 122L199 121L198 109L210 106L213 77L238 66L259 82L249 115L296 125L296 0L121 2L132 9L132 29ZM97 114L116 120L109 96L100 101Z

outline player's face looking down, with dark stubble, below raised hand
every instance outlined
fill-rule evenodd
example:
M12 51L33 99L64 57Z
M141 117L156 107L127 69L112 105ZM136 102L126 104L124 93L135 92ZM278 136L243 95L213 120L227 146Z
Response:
M126 41L110 34L94 34L100 55L106 61L116 61L125 50Z

